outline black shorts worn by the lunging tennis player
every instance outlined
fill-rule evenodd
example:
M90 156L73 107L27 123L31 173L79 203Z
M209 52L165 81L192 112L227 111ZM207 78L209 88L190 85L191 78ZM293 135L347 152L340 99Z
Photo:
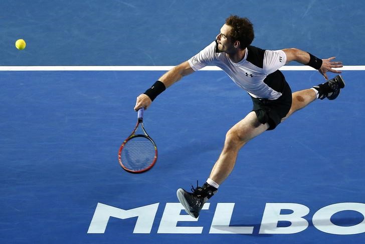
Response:
M281 74L282 79L280 90L281 96L276 100L268 100L262 98L251 97L253 101L252 111L256 113L256 116L260 123L269 123L269 128L267 130L273 130L280 124L281 119L284 118L291 107L292 94L289 84L285 81L284 76ZM278 82L278 81L276 81Z

